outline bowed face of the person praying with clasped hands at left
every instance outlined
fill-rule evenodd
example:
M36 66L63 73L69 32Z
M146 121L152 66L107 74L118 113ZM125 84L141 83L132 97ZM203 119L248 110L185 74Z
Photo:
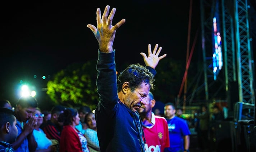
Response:
M30 117L33 116L33 113L36 111L36 108L28 107L28 108L23 108L20 105L17 105L16 110L18 112L18 118L22 122L26 122Z

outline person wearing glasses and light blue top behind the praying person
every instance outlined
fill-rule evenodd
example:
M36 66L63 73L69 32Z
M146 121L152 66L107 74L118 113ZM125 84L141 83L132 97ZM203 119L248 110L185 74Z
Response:
M39 108L36 108L34 116L37 117L37 123L33 130L33 135L37 142L36 152L55 152L57 147L53 145L52 140L47 138L44 131L40 128L43 123L44 114Z

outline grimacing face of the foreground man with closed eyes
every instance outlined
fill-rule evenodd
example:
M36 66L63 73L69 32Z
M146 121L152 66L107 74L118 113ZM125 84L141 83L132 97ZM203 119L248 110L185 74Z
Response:
M146 105L145 99L148 96L149 89L150 85L144 82L136 88L134 92L131 92L131 90L128 89L123 101L124 104L133 112L136 112L140 109L141 105Z

